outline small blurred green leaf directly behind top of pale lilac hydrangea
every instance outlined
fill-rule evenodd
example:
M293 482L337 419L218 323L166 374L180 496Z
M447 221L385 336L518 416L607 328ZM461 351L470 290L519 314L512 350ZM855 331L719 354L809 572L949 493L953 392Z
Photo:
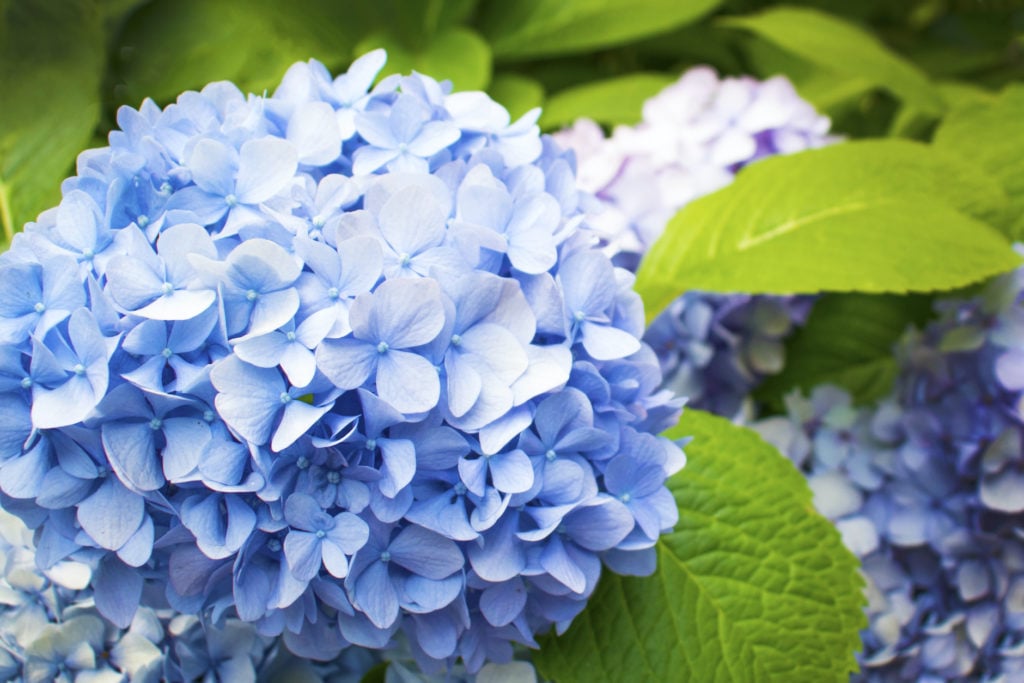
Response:
M560 128L580 117L610 126L638 123L644 100L675 80L665 74L630 74L562 90L545 103L541 128Z

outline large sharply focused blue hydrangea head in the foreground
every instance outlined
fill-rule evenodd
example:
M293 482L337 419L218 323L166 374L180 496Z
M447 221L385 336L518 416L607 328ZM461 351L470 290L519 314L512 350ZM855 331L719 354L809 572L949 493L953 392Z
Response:
M0 257L0 501L118 628L472 673L653 569L681 401L571 155L383 63L122 109Z

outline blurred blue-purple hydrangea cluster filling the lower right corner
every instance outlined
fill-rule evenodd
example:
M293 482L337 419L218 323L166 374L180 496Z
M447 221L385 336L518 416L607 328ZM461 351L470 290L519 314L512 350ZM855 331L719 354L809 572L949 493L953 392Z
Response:
M819 387L758 428L862 559L859 680L1021 680L1024 271L937 309L888 399Z

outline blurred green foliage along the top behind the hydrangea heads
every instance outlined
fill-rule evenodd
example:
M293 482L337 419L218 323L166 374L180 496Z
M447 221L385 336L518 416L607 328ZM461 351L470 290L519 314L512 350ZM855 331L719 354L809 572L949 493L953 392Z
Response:
M852 137L926 137L942 112L1024 78L1019 0L0 0L0 222L56 204L117 110L231 80L263 93L376 47L557 129L635 123L687 67L787 76Z

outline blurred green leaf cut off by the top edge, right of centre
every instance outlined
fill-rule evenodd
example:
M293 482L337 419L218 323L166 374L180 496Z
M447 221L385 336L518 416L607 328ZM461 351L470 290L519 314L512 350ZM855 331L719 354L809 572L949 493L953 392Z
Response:
M487 2L479 26L500 59L584 52L667 33L722 0L515 0Z

